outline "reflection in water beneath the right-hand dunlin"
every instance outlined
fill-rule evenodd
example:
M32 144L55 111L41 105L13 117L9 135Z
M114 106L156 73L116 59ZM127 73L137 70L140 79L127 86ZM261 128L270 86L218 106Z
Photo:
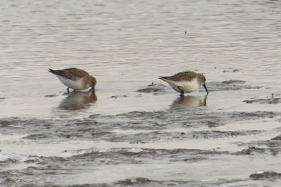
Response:
M181 96L174 100L171 108L179 107L198 107L207 105L207 95L205 97L197 97L195 95Z

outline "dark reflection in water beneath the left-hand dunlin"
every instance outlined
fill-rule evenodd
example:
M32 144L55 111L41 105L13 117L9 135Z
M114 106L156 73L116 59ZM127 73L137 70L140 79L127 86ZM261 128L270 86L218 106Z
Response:
M70 92L68 96L60 102L60 109L76 111L79 109L86 109L91 106L91 103L97 101L96 93L94 89L88 92Z

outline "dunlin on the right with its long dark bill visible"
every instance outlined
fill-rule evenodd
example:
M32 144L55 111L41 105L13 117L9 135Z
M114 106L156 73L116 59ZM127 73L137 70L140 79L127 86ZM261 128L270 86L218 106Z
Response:
M171 88L174 88L174 90L181 93L181 96L183 96L184 93L190 93L199 90L202 85L207 91L207 95L209 93L205 85L206 78L203 74L196 74L193 71L185 71L174 74L174 76L161 76L159 78L166 83L169 83Z

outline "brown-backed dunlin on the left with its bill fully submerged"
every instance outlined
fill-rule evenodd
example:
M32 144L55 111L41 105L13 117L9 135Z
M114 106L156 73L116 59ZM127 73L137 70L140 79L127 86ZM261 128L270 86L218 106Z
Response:
M90 76L86 71L77 68L67 68L61 70L48 69L49 72L58 76L60 82L67 86L67 92L70 88L75 90L86 90L87 88L95 88L96 78Z

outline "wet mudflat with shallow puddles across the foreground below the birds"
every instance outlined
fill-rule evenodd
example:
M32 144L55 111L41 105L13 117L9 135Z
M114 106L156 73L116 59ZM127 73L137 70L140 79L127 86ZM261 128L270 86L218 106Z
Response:
M1 120L1 180L28 186L274 184L280 179L277 116L190 108L80 120L9 118Z

